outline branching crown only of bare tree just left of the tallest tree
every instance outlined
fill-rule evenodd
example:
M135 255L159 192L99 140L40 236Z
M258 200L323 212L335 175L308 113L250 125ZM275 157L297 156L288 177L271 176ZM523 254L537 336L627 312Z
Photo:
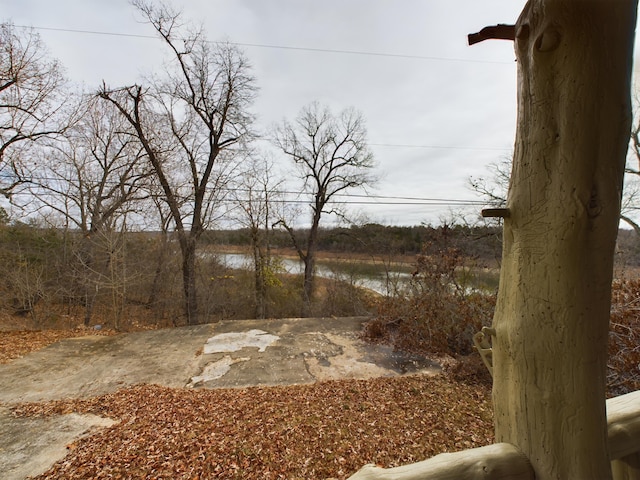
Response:
M149 195L144 150L127 127L113 106L88 98L75 125L43 150L29 182L39 207L85 236L114 228Z

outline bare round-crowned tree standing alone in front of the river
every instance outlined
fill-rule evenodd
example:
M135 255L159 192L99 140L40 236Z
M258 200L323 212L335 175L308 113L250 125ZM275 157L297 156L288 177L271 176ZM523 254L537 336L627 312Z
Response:
M322 214L340 214L335 203L337 195L373 182L373 155L367 146L364 119L359 112L348 108L336 117L317 102L304 107L295 123L284 121L275 132L275 143L298 167L303 180L302 193L312 197L311 226L304 245L297 240L290 225L280 222L304 262L304 314L308 315Z

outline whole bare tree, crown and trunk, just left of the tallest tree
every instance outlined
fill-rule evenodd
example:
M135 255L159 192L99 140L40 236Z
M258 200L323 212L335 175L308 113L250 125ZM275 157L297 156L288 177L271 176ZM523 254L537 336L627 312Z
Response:
M149 169L119 112L94 97L85 100L79 120L41 149L44 160L28 186L32 208L57 214L67 231L81 233L69 243L62 274L70 276L67 294L83 299L89 325L101 290L123 291L124 280L114 277L123 270L114 265L124 258L124 220L149 195Z

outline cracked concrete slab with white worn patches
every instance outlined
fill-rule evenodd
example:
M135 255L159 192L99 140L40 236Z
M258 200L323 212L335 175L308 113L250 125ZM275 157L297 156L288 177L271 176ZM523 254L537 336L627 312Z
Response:
M236 320L216 325L189 386L304 384L435 372L428 359L359 339L364 317ZM244 332L242 334L241 332ZM247 360L249 357L249 360Z

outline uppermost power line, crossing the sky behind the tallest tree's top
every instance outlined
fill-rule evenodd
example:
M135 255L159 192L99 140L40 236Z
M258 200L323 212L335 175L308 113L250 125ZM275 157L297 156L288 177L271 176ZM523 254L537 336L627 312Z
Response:
M64 33L80 33L86 35L107 35L112 37L126 37L126 38L145 38L145 39L157 39L155 35L140 35L134 33L116 33L116 32L104 32L98 30L80 30L74 28L55 28L55 27L36 27L27 25L16 25L18 28L33 28L34 30L45 30L52 32L64 32ZM409 55L403 53L384 53L384 52L372 52L366 50L344 50L333 48L315 48L315 47L297 47L292 45L270 45L265 43L242 43L242 42L219 42L209 40L209 43L228 43L238 47L252 47L252 48L268 48L276 50L291 50L301 52L313 52L313 53L331 53L341 55L359 55L369 57L386 57L386 58L404 58L410 60L430 60L438 62L461 62L461 63L487 63L496 65L513 65L513 62L504 62L497 60L477 60L467 58L450 58L450 57L435 57L429 55Z

